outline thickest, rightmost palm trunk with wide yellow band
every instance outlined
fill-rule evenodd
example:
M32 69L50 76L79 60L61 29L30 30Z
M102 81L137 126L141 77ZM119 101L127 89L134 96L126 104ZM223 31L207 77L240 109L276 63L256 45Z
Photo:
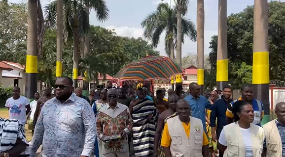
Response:
M262 124L269 122L268 3L254 0L252 84L254 98L263 103Z

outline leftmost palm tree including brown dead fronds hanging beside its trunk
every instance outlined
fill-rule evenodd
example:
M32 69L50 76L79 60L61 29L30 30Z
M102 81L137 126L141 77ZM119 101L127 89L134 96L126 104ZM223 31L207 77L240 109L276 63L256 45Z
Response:
M43 15L39 0L28 0L28 34L26 59L26 92L30 101L37 91L37 57L41 57L44 36Z

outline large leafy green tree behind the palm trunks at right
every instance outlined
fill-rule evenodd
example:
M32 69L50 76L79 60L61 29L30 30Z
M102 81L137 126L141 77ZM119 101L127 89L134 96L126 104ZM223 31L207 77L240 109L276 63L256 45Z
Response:
M285 43L281 42L285 41L285 2L270 1L268 7L270 79L285 80ZM229 64L229 83L238 87L242 82L251 82L253 6L248 6L244 11L231 14L228 17L227 44L228 58L231 61L231 64ZM216 35L212 37L210 49L212 52L209 60L215 69ZM241 69L245 71L241 71Z

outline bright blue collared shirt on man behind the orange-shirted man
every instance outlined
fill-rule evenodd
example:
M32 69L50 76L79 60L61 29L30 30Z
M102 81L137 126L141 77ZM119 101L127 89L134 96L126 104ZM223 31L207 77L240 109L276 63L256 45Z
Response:
M206 113L205 109L211 109L212 105L207 98L200 95L197 100L189 94L184 100L188 101L192 110L192 117L201 119L203 123L203 129L206 131Z

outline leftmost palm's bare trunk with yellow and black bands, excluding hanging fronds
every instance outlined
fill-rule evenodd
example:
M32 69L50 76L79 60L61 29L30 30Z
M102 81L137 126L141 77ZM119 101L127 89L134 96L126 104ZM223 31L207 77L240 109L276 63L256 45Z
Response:
M26 60L26 92L30 101L37 91L37 0L28 0L28 35Z

